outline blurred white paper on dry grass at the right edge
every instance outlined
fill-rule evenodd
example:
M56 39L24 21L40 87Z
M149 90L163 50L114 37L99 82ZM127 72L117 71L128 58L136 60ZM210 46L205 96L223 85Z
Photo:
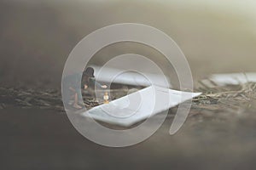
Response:
M224 85L238 85L246 82L256 82L256 73L231 73L231 74L214 74L210 77L212 82L215 82L219 86Z

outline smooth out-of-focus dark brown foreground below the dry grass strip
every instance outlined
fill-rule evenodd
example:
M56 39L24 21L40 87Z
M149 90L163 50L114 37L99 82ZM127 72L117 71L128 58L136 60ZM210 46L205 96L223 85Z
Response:
M13 108L2 110L0 120L3 169L253 169L255 163L251 118L189 117L171 136L169 117L151 138L120 149L90 142L55 111Z

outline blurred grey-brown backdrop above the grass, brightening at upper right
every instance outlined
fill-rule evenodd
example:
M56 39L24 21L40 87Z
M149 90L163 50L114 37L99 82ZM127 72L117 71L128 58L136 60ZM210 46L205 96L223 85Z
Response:
M173 38L196 80L211 73L256 71L256 3L239 1L2 0L0 81L11 86L60 87L68 54L90 32L116 23L154 26ZM115 44L99 56L126 52Z

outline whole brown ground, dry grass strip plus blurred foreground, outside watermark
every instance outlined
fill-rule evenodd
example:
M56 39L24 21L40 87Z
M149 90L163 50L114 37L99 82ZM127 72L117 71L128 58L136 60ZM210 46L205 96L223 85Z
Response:
M255 83L223 92L227 89L207 88L215 92L194 99L189 118L175 135L168 132L177 108L169 111L166 122L153 136L126 148L108 148L85 139L62 111L56 90L5 89L0 96L2 103L5 101L5 108L0 110L1 166L3 169L253 169L256 115L252 106L242 103L255 101Z

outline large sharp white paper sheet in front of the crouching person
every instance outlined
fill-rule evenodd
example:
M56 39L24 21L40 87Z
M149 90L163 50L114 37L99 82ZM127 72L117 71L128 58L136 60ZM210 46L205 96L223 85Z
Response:
M89 111L84 111L81 115L90 116L95 120L110 124L130 127L147 119L149 116L167 111L200 94L150 86L125 97L115 99L109 104L99 105Z

